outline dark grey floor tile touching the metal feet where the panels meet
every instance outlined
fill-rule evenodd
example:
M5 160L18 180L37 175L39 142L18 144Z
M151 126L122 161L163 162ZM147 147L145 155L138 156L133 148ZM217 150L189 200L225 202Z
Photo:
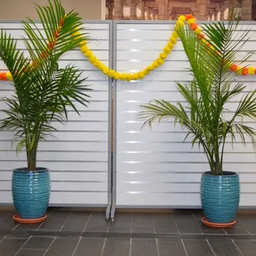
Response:
M131 213L116 213L116 220L109 225L109 232L129 233L131 230Z

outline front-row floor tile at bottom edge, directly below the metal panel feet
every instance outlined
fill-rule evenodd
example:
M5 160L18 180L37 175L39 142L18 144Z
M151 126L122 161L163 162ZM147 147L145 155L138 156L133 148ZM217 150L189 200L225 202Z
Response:
M107 239L103 256L130 256L130 239Z

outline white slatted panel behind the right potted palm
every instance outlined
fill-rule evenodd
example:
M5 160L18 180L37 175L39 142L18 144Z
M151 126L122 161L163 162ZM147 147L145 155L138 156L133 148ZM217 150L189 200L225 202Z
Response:
M120 72L145 69L156 59L171 36L170 24L133 24L117 21L116 66ZM239 26L242 30L244 26ZM248 26L246 26L248 27ZM253 36L243 51L256 44L256 25L249 26ZM238 31L239 32L239 31ZM255 56L251 64L255 64ZM206 156L189 140L186 130L172 121L141 130L137 114L140 104L152 99L183 102L175 81L186 82L187 58L181 42L174 46L165 64L143 81L116 83L116 206L117 207L200 207L201 173L209 170ZM255 77L239 77L248 88L255 88ZM239 98L229 103L235 109ZM256 127L254 122L251 126ZM256 206L256 155L252 145L244 148L239 140L234 148L227 143L225 169L240 174L240 206Z

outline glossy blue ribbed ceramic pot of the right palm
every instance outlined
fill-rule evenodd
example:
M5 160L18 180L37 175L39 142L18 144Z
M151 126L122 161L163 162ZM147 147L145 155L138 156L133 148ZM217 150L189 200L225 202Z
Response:
M239 206L239 175L223 172L221 176L210 172L201 175L201 206L206 219L213 223L235 220Z

